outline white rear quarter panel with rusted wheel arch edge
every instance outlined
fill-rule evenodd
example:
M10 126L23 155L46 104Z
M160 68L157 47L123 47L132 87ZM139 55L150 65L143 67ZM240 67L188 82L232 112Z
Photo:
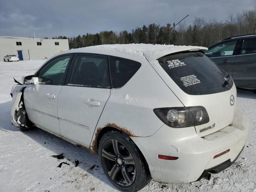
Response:
M110 126L130 136L151 136L163 125L154 108L183 106L146 59L136 61L142 64L136 74L123 87L111 89L96 132Z

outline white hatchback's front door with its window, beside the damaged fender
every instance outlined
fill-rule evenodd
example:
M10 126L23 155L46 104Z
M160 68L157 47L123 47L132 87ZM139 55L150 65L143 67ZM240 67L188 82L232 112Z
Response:
M31 122L55 134L60 134L57 100L64 84L72 54L53 58L35 74L34 84L24 90L24 103Z

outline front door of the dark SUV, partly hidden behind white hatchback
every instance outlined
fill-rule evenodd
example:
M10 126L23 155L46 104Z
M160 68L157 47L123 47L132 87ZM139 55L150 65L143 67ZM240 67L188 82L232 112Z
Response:
M238 40L221 42L209 48L205 53L213 62L218 64L227 74L233 75L234 58Z

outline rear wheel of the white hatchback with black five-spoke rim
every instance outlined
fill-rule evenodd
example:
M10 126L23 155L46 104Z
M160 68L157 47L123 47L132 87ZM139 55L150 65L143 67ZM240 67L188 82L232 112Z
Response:
M128 135L106 132L100 139L98 152L104 173L119 190L138 191L150 182L146 160Z

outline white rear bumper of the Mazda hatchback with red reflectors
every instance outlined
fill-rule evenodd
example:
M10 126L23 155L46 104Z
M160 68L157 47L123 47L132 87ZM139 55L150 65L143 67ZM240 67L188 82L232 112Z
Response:
M187 183L198 180L206 171L218 172L230 166L245 145L248 129L248 117L236 108L232 124L202 138L194 127L177 129L166 125L150 137L131 138L146 158L153 180ZM226 154L214 158L228 149ZM158 154L178 159L162 160Z

